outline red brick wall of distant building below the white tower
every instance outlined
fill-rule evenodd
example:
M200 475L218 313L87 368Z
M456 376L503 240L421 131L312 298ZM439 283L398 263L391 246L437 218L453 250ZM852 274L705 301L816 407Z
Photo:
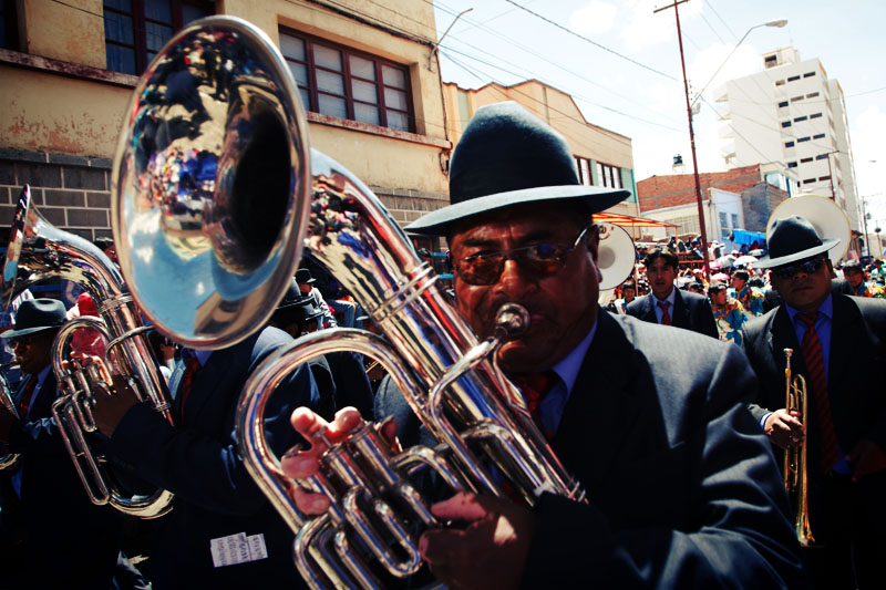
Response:
M760 166L744 166L727 172L699 174L702 197L709 188L741 193L761 180ZM696 203L696 179L691 174L652 176L637 183L640 211Z

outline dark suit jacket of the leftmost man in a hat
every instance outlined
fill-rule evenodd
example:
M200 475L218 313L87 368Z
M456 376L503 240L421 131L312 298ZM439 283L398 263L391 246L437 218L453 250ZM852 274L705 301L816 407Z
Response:
M27 383L17 392L17 403ZM10 432L9 448L21 454L21 499L11 474L3 474L0 525L6 541L23 531L25 545L24 562L0 569L3 588L109 588L120 553L122 515L86 496L52 417L56 393L50 371L34 392L28 422L18 421ZM27 582L18 586L22 582L14 577L22 571Z

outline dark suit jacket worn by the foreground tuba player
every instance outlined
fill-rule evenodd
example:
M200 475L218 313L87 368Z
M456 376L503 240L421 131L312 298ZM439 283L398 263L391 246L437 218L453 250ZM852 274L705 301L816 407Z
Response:
M589 503L543 496L524 587L805 588L754 391L736 346L600 310L553 442Z

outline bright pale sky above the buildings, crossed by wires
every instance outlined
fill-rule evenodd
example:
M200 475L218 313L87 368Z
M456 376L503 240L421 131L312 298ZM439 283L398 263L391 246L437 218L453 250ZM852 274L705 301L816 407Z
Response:
M434 0L437 35L455 14L473 9L441 44L442 76L464 87L538 79L571 94L589 122L632 139L638 180L670 174L677 153L691 172L673 9L653 13L668 3ZM723 64L750 28L775 19L789 23L754 29ZM708 99L722 81L761 71L765 52L790 45L803 60L821 60L846 96L858 193L886 230L886 2L690 0L680 4L680 21L691 87L701 90L723 64L704 92ZM721 124L702 103L694 123L702 172L723 169Z

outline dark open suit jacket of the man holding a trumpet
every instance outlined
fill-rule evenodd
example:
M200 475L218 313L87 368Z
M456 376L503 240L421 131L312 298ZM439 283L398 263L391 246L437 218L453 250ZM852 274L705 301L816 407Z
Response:
M886 395L884 395L884 368L886 368L886 301L843 294L832 294L834 318L831 332L831 355L827 368L827 391L837 441L843 453L848 453L862 438L877 443L886 449ZM745 325L744 349L760 379L760 391L751 412L758 423L765 414L785 405L784 349L794 349L791 366L794 374L806 376L806 366L800 352L800 342L783 306ZM807 402L807 433L810 436L807 470L810 473L810 520L825 509L816 503L818 448L814 436L817 415L814 402ZM779 453L780 454L780 453ZM863 490L861 497L878 497L870 504L877 508L886 525L886 473L867 476L862 487L875 486L877 491ZM815 526L813 525L813 532Z

